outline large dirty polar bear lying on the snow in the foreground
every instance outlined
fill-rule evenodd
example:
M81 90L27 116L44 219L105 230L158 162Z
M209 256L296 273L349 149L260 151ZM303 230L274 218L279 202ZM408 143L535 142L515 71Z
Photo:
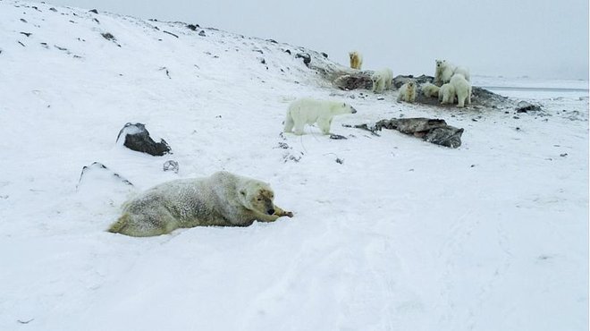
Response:
M265 182L217 172L206 178L164 182L123 204L122 216L108 229L135 237L194 226L248 226L293 216L274 205Z

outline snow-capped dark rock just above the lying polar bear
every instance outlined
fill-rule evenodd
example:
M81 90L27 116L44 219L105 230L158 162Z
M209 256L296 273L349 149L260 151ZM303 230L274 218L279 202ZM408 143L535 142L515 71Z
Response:
M124 139L123 146L126 148L155 157L170 153L168 143L165 140L160 142L152 140L143 123L126 123L117 135L117 142L122 139Z

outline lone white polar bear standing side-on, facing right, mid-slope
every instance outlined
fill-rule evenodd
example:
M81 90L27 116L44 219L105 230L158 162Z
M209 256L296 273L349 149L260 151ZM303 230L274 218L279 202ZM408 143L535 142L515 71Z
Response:
M340 101L300 98L293 101L287 109L283 132L291 132L295 127L295 134L301 135L305 124L317 123L322 133L329 134L335 115L355 113L357 113L355 108Z

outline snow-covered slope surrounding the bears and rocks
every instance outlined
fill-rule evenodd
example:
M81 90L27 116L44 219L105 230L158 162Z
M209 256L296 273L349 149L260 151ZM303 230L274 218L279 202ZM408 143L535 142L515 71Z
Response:
M0 329L586 329L587 91L529 92L541 115L400 104L333 89L299 47L51 8L0 0ZM349 139L282 136L304 96L355 106L332 126ZM463 145L341 127L401 115L463 127ZM127 122L173 155L117 146ZM95 161L135 186L77 188ZM221 169L295 216L105 232L134 192Z

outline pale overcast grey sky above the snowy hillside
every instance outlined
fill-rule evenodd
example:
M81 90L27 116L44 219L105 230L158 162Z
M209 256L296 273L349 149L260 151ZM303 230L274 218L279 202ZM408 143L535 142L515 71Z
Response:
M588 79L588 0L46 0L185 21L326 52L363 69L434 74L434 59L472 74Z

